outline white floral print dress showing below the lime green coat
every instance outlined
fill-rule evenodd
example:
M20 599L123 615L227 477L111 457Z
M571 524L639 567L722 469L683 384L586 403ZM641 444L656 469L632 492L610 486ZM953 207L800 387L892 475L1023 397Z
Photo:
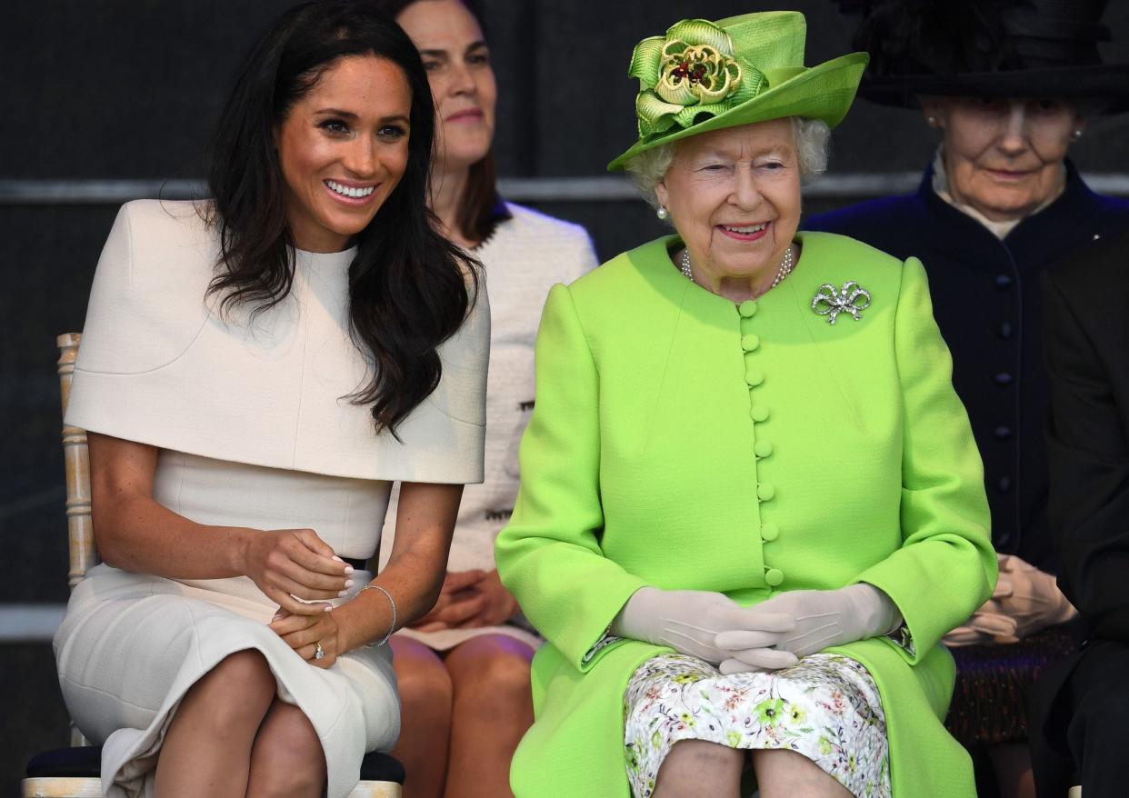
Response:
M623 695L624 755L636 798L649 798L671 747L702 739L730 748L795 751L865 798L890 798L886 719L859 663L813 654L784 670L725 676L685 655L648 659Z

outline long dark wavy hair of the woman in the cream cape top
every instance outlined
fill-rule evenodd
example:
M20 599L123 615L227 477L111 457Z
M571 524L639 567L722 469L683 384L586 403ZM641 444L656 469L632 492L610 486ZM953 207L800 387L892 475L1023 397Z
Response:
M348 398L370 404L377 432L396 426L439 384L437 348L462 325L479 264L437 233L427 208L435 109L411 40L371 0L317 0L280 16L251 49L208 149L215 198L209 221L220 256L209 292L253 313L281 302L294 283L294 238L274 131L327 69L351 55L400 67L412 93L408 166L355 238L349 321L371 376Z

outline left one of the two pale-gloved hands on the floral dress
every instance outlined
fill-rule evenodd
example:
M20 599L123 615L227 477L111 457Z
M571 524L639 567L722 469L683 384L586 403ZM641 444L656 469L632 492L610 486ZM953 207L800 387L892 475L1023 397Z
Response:
M611 632L621 638L669 646L676 651L717 665L724 657L714 639L718 632L751 630L747 622L742 625L747 612L720 593L642 587L634 591L612 621ZM747 648L753 649L746 654L749 660L767 669L795 665L795 656L770 648L779 641L782 632L795 626L793 619L762 613L759 624L755 630L745 632Z

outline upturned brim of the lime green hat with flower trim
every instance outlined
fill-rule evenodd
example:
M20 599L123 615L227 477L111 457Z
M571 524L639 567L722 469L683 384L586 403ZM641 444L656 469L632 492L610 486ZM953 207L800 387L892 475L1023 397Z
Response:
M607 165L609 172L619 172L640 152L680 139L688 139L711 130L737 128L753 122L768 122L786 116L803 116L822 120L829 128L842 122L855 100L858 82L869 56L866 53L848 53L837 59L805 69L788 78L779 86L729 108L723 114L702 120L689 128L675 125L662 133L653 133L640 139L619 158Z

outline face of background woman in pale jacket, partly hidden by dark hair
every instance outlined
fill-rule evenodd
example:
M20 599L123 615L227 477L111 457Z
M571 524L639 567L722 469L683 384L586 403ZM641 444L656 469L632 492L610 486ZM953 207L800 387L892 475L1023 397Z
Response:
M436 103L437 152L447 172L482 160L495 129L498 87L474 15L458 0L420 0L396 17L419 47Z

